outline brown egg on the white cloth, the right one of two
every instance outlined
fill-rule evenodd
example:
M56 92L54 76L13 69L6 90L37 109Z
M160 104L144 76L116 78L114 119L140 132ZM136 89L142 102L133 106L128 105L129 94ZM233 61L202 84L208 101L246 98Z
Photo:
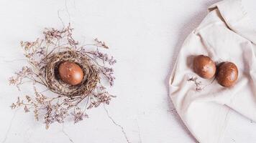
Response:
M232 62L222 63L217 72L216 79L223 87L231 87L237 82L238 69Z

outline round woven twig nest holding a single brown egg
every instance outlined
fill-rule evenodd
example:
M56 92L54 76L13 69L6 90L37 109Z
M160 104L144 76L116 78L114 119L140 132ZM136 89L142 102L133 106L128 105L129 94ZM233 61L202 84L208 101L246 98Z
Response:
M53 54L47 60L48 64L45 67L45 81L52 92L68 97L85 96L90 94L99 82L99 69L91 64L86 56L83 56L77 51L59 52ZM77 77L78 80L71 80L70 77L66 78L63 75L67 74L66 71L60 72L59 69L63 69L65 66L70 65L76 65L75 70L78 74L80 73ZM79 67L83 74L81 74ZM80 77L81 75L83 77ZM73 78L76 78L76 76Z

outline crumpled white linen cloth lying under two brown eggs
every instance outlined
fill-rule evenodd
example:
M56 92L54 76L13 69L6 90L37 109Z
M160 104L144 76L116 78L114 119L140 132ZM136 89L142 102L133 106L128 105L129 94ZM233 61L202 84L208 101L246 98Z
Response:
M256 31L239 0L210 6L209 14L184 41L170 76L170 98L198 142L223 142L230 110L256 122L255 44ZM237 84L221 87L214 79L198 77L192 68L198 54L216 63L234 62L239 69ZM188 81L191 77L198 77L201 91Z

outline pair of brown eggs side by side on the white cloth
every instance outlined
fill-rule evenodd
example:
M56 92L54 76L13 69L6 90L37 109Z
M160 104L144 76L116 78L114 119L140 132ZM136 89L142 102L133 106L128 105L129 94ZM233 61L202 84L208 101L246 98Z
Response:
M238 79L238 69L234 63L227 61L216 67L209 56L196 56L193 59L193 70L204 79L211 79L216 75L217 82L223 87L232 87Z

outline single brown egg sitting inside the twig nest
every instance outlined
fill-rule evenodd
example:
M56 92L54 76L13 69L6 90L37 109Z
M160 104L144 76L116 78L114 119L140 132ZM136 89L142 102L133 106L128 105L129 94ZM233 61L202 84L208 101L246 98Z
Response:
M83 70L81 67L70 61L64 61L58 68L60 79L70 85L80 84L83 80Z

